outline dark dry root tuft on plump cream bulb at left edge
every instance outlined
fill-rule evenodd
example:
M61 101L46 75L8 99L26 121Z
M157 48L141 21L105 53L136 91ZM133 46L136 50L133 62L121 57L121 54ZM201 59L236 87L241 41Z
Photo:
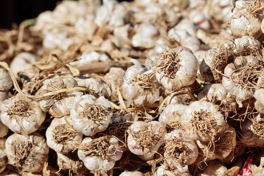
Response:
M24 100L16 101L12 106L7 110L8 115L17 115L17 116L29 116L29 112L32 110L32 105Z

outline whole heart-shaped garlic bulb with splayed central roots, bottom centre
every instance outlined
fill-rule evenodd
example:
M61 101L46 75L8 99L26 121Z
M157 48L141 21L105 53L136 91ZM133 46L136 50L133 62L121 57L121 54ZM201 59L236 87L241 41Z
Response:
M129 150L142 160L150 160L164 143L163 137L166 134L166 129L162 123L157 121L138 121L134 122L127 132Z

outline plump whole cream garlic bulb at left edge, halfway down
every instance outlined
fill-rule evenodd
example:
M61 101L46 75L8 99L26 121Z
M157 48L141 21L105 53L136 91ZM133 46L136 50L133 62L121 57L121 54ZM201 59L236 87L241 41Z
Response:
M46 113L42 112L39 103L20 94L5 100L0 105L1 121L13 132L30 134L44 122Z

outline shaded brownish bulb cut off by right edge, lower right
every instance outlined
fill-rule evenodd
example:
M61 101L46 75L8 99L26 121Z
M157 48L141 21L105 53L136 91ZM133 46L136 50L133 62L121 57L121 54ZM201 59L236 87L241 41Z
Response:
M241 124L241 141L246 146L264 145L263 114L254 113Z

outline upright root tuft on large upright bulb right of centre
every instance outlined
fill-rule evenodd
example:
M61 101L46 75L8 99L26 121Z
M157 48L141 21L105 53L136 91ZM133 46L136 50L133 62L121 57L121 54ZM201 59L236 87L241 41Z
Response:
M171 79L175 78L177 71L182 66L180 64L180 53L182 50L176 51L175 49L168 49L164 51L160 56L161 61L157 66L156 71L162 72L164 76L167 76Z

